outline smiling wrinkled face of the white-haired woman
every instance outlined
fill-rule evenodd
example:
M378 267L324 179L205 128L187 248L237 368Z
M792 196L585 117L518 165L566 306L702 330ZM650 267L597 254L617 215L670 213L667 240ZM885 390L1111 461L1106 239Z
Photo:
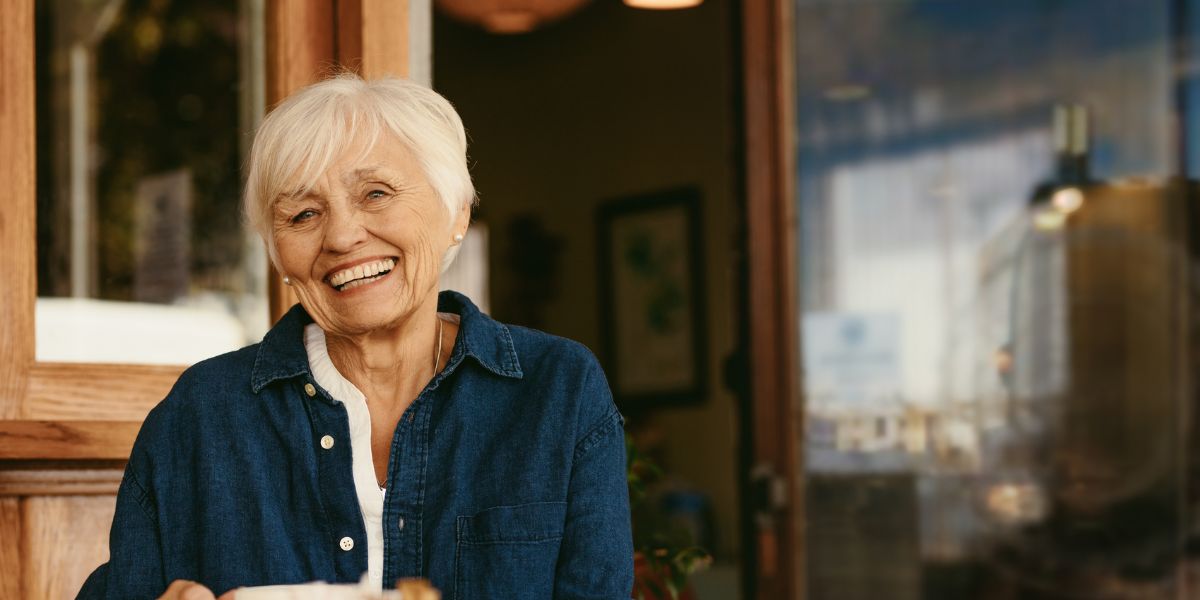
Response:
M442 256L468 220L466 203L451 220L413 152L386 137L370 152L346 149L307 193L281 197L272 227L308 314L328 332L358 335L436 306Z

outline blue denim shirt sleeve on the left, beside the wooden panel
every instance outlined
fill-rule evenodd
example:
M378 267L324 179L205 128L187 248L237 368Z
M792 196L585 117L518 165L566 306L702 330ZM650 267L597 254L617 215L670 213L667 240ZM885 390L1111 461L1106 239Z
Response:
M77 598L154 599L167 589L154 506L155 499L138 480L131 460L116 492L108 562L92 571Z

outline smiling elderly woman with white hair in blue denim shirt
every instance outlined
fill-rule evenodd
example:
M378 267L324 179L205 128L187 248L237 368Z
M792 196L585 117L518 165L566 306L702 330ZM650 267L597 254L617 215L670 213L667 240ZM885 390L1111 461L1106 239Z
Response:
M301 90L254 138L246 216L300 304L146 418L84 598L426 577L448 599L628 599L622 418L582 346L438 277L474 188L450 103Z

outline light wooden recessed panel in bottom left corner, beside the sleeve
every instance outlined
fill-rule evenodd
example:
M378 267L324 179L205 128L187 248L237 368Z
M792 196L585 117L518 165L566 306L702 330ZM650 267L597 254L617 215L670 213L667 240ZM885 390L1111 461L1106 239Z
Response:
M108 529L116 498L49 496L24 498L24 598L74 598L108 560Z

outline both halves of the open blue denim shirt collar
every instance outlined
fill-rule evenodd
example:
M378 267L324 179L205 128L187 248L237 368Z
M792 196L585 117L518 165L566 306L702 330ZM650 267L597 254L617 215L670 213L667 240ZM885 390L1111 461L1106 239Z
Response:
M464 356L470 356L498 376L516 379L524 377L508 326L480 312L467 296L457 292L438 294L438 311L454 313L460 318L458 341L446 365L448 371L455 368ZM310 373L308 354L304 346L304 328L310 323L312 317L298 304L263 336L251 373L254 394L271 382Z

